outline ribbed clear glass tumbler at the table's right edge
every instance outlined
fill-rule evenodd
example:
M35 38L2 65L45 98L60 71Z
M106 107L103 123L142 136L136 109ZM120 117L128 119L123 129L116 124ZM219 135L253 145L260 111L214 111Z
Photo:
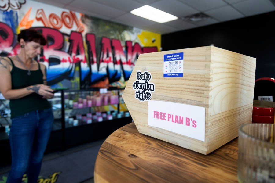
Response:
M238 181L275 183L275 124L245 124L239 129Z

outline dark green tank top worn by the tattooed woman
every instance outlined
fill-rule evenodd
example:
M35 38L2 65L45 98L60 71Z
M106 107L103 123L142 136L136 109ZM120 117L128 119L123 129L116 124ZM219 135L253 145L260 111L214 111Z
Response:
M9 58L10 59L10 58ZM35 84L43 84L43 73L38 63L38 70L31 70L31 75L28 75L28 70L15 67L12 59L10 59L13 69L11 70L12 89L25 88ZM40 109L48 109L51 107L47 99L43 99L41 95L31 93L20 99L11 99L9 101L11 110L11 118Z

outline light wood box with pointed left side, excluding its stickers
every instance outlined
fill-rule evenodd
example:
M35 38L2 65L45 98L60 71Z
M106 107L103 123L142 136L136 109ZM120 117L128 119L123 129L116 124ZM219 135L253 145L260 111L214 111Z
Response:
M184 53L183 77L163 77L163 56ZM208 154L238 136L251 123L256 59L214 46L141 54L123 99L142 134ZM152 99L205 108L205 141L148 125L148 101L135 98L137 71L152 74Z

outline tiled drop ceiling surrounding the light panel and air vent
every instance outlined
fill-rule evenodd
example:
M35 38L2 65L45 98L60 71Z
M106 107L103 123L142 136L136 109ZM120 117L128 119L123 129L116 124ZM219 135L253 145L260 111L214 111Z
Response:
M137 27L159 34L210 25L228 20L275 11L275 0L35 0L104 20ZM178 20L156 23L130 13L143 5L150 5ZM190 22L183 17L204 13L209 20ZM266 20L263 20L266 21Z

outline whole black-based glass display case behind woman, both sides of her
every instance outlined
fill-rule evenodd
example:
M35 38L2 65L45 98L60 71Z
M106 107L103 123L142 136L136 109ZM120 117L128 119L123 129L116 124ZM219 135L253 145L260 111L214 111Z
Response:
M54 115L48 151L106 138L116 129L132 122L122 93L123 89L118 88L56 89L54 97L48 99ZM2 97L0 102L1 142L9 139L11 120L9 100Z

